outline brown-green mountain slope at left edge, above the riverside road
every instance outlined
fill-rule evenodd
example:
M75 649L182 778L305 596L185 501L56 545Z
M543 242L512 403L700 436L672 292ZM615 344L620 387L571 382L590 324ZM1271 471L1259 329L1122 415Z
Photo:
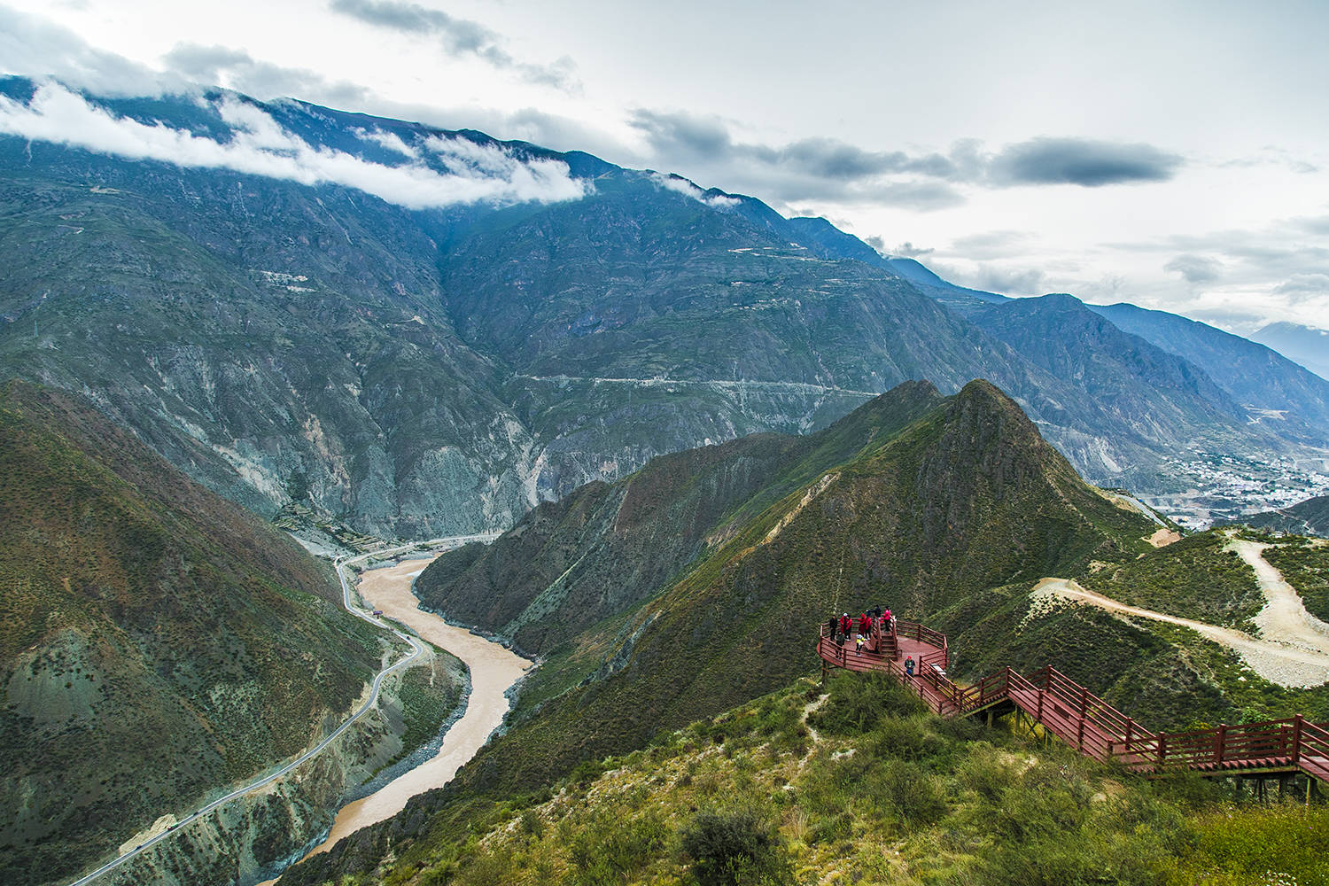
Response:
M331 571L68 396L0 391L0 879L306 747L376 669Z

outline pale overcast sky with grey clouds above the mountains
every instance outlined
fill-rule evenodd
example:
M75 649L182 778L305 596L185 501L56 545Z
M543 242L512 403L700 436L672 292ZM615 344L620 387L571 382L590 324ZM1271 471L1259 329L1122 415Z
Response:
M114 96L218 85L586 150L823 215L964 286L1249 333L1329 328L1325 33L1322 0L0 0L0 72ZM110 137L74 96L47 97L69 114L9 106L0 130ZM421 183L303 159L272 174L490 193L460 166ZM577 191L500 171L496 199Z

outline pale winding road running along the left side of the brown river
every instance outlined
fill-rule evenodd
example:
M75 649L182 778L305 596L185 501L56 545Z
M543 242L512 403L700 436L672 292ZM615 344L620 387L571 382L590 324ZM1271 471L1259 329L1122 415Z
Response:
M250 792L258 790L259 788L263 788L264 785L272 784L274 781L276 781L282 776L286 776L287 773L290 773L296 766L299 766L299 765L307 762L308 760L316 757L324 748L327 748L330 744L332 744L332 741L335 741L338 739L338 736L340 736L343 732L346 732L351 727L352 723L355 723L356 720L359 720L361 716L364 716L369 709L372 709L375 707L375 704L379 700L379 688L383 685L384 677L387 677L389 673L393 673L396 671L401 671L403 668L411 667L412 664L415 664L415 662L417 659L420 659L420 656L424 655L425 648L424 648L424 646L420 644L420 642L417 639L415 639L409 634L404 634L403 631L396 630L395 627L392 627L391 624L383 622L381 619L375 618L372 612L361 610L361 608L359 608L358 606L355 606L352 603L352 600L351 600L351 584L350 584L350 582L347 582L346 573L342 569L343 566L348 566L351 563L358 563L358 562L369 559L371 557L377 557L377 558L392 557L393 554L403 554L405 551L416 550L416 549L420 549L420 547L431 547L433 545L447 545L449 542L465 543L465 542L473 542L473 541L493 541L493 538L496 535L497 535L497 533L481 533L478 535L455 535L455 537L451 537L451 538L433 538L433 539L429 539L427 542L412 542L411 545L401 545L399 547L391 547L391 549L387 549L387 550L372 551L369 554L360 554L359 557L342 557L342 558L335 559L332 562L332 565L334 565L334 567L336 567L338 579L342 582L342 606L346 608L346 611L350 612L351 615L355 615L359 619L369 622L371 624L373 624L376 627L380 627L380 628L383 628L385 631L392 631L393 634L396 634L399 638L401 638L405 643L408 643L411 646L411 655L408 655L404 659L396 662L395 664L391 664L389 667L379 671L379 673L375 675L375 677L373 677L373 683L371 683L371 685L369 685L369 697L368 697L368 700L365 700L365 703L361 704L360 708L355 713L352 713L350 717L347 717L347 720L343 721L342 725L339 725L327 737L324 737L316 745L314 745L312 748L310 748L308 751L306 751L304 753L302 753L299 757L296 757L291 762L286 764L284 766L282 766L276 772L272 772L271 774L259 777L255 781L251 781L251 782L249 782L249 784L246 784L246 785L243 785L241 788L237 788L235 790L230 792L225 797L214 800L213 802L207 804L202 809L198 809L197 812L191 812L190 814L185 816L178 822L175 822L174 825L171 825L167 830L163 830L159 834L155 834L155 836L145 840L144 842L138 843L134 849L129 850L128 853L124 853L122 855L118 855L117 858L113 858L112 861L106 862L105 865L102 865L97 870L94 870L94 871L92 871L89 874L85 874L84 877L80 877L78 879L73 881L72 883L69 883L69 886L84 886L84 883L90 883L92 881L97 879L102 874L106 874L106 873L114 870L116 867L120 867L121 865L124 865L129 859L136 858L137 855L142 854L144 851L152 849L153 846L155 846L161 841L167 840L169 837L175 836L177 833L179 833L183 829L185 825L191 824L194 821L198 821L203 816L207 816L209 813L211 813L213 810L218 809L219 806L225 806L227 802L235 800L237 797L243 797L245 794L247 794Z

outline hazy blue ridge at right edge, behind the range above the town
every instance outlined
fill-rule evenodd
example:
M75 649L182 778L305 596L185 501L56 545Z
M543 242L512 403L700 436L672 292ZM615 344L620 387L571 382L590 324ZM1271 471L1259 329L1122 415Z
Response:
M1134 304L1086 306L1123 332L1138 335L1204 369L1233 400L1265 422L1290 424L1308 442L1325 445L1329 381L1267 348L1166 311Z

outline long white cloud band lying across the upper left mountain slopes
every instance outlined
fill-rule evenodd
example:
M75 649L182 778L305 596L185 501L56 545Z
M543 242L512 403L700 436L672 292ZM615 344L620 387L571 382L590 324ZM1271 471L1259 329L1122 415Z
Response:
M300 185L354 187L407 209L455 203L557 202L583 197L590 185L553 159L520 159L493 145L432 138L437 171L419 162L387 166L286 132L260 108L227 96L214 110L231 129L227 141L194 135L161 122L116 116L57 84L37 88L28 104L0 96L0 133L82 147L126 159L183 167L227 169Z

